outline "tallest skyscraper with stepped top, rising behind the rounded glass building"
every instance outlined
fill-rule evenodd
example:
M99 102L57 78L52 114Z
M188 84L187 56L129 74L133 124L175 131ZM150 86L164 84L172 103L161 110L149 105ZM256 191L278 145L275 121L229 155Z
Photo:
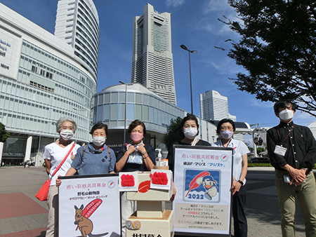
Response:
M176 104L171 51L171 14L158 13L146 4L143 14L133 20L131 82Z

